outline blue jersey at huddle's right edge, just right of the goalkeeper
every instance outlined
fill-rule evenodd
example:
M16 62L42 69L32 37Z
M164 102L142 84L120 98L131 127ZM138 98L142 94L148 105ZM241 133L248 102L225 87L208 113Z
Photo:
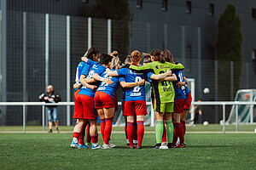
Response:
M175 73L176 77L177 77L177 82L183 82L183 72L182 71L177 71ZM185 91L185 87L182 86L181 88L177 88L176 83L177 82L172 82L173 84L173 88L175 91L175 98L174 99L186 99L186 91Z

